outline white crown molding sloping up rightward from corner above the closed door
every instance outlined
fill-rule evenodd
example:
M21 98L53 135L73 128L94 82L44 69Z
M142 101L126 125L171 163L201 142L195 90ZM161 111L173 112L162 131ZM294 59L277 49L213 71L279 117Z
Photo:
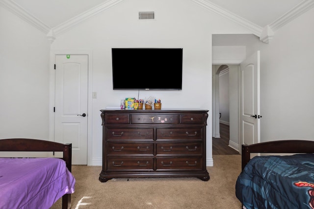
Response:
M97 15L100 12L103 12L104 10L106 10L109 7L119 3L120 1L123 1L123 0L106 1L106 2L104 2L98 6L95 6L94 8L87 10L86 12L79 14L78 16L76 16L74 18L71 18L70 20L68 20L64 23L61 23L61 24L53 27L52 30L54 31L54 34L56 36L58 36L58 35L66 32L66 31L68 31L72 27L76 26L78 23L81 23L81 22L85 21L86 19Z

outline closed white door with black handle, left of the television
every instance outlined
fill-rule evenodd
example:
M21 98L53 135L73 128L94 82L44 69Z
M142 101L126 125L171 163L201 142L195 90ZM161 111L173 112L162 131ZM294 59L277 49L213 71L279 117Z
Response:
M88 55L55 60L54 139L72 143L72 164L87 164Z

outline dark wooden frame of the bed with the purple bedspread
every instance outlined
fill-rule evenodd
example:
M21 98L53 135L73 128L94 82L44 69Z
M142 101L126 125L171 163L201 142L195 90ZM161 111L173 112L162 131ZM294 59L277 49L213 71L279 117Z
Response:
M63 152L63 159L71 172L72 144L40 139L0 139L0 151ZM71 194L62 196L62 209L71 208Z

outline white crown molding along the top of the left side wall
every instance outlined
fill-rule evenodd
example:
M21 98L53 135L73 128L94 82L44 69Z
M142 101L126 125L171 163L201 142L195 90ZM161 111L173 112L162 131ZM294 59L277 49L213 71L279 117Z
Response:
M23 7L19 6L12 0L0 0L0 5L45 34L51 30L47 24L41 22L39 19L31 15Z

